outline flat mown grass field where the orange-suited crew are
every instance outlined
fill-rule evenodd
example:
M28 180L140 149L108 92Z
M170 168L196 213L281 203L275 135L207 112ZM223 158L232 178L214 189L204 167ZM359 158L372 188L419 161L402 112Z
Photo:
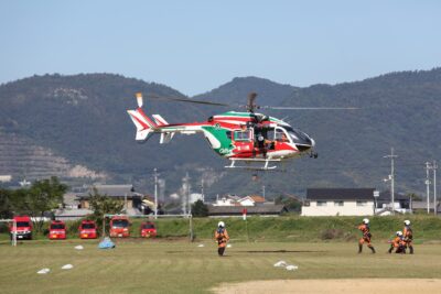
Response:
M197 247L204 243L205 247ZM84 250L74 247L83 244ZM431 277L441 279L441 246L424 242L416 254L387 254L388 244L357 254L356 242L237 242L218 258L211 240L66 240L0 244L1 293L209 293L220 283L258 280ZM277 261L298 271L273 268ZM64 264L72 270L61 270ZM50 268L45 275L36 274Z

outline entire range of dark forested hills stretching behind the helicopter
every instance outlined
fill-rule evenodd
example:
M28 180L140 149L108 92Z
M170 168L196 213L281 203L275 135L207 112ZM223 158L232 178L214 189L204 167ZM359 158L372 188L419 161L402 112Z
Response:
M204 177L208 197L260 193L262 186L267 195L302 194L312 186L385 189L381 179L389 174L390 162L384 155L394 146L399 155L397 189L407 193L422 192L423 163L441 160L440 68L305 88L256 77L234 78L193 97L244 105L248 92L257 91L261 105L361 108L269 112L288 117L293 127L314 138L319 159L293 161L288 172L262 173L257 181L248 172L224 171L226 162L201 137L178 137L161 146L155 137L146 144L136 143L126 112L136 108L136 91L182 96L164 85L109 74L34 76L1 85L0 149L8 150L8 155L0 155L0 174L37 176L44 170L64 177L87 175L71 173L79 165L105 175L94 181L135 181L151 189L151 173L158 167L166 179L165 194L176 192L189 172L193 190ZM202 121L229 110L154 100L144 105L146 112L161 113L169 122ZM39 154L56 157L58 165L45 166L49 157Z

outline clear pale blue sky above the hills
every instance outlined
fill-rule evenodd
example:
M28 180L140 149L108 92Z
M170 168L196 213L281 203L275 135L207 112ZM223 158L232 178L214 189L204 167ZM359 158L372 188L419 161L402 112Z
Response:
M0 1L0 83L115 73L196 95L441 65L441 1Z

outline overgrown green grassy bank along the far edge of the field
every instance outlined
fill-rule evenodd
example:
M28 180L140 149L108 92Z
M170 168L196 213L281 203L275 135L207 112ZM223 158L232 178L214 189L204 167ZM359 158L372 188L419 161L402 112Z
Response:
M241 218L193 218L195 239L212 239L217 222L223 220L233 241L287 241L321 242L354 241L361 237L357 226L363 217L248 217ZM397 230L402 230L404 220L412 224L415 241L441 240L441 218L426 215L370 217L373 242L386 242ZM130 233L140 237L140 224L146 219L131 219ZM158 238L187 238L189 219L158 219ZM67 238L78 238L80 220L66 221ZM47 225L49 226L49 225ZM46 226L46 227L47 227ZM4 239L7 232L1 233ZM44 233L34 233L35 239L45 239Z

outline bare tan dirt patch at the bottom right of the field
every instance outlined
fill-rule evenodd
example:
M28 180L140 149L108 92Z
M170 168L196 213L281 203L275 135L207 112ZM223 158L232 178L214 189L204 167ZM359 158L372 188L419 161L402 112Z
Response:
M218 294L257 294L257 293L357 293L390 294L405 293L440 293L441 280L438 279L347 279L347 280L276 280L254 281L237 284L222 284L213 288Z

